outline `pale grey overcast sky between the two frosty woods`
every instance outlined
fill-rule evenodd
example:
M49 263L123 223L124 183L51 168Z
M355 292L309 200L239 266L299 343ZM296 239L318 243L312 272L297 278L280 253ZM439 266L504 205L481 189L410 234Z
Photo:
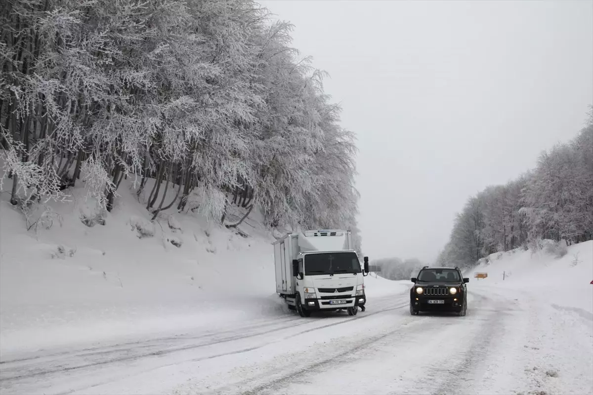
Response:
M434 259L468 196L533 168L593 104L592 1L259 3L358 135L371 259Z

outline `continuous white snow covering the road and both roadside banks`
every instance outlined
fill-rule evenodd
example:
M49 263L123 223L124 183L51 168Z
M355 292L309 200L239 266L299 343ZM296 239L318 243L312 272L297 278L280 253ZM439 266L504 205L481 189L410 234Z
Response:
M257 213L243 236L191 212L151 224L128 187L104 226L75 189L28 232L3 195L3 394L593 393L593 242L490 256L465 317L411 316L412 283L372 274L366 311L302 318Z

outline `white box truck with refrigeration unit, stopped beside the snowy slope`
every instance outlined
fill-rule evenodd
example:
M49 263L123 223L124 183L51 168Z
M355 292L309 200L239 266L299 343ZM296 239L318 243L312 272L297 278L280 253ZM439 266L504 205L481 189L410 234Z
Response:
M349 230L288 233L274 242L274 261L276 293L301 317L320 310L353 316L366 302L368 256L363 270Z

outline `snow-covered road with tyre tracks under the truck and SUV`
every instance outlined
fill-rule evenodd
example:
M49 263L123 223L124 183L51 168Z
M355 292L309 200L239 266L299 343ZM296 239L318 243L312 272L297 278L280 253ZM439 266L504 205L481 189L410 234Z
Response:
M410 316L407 293L357 316L241 325L0 363L12 393L574 393L593 390L591 318L527 292L471 290L466 317Z

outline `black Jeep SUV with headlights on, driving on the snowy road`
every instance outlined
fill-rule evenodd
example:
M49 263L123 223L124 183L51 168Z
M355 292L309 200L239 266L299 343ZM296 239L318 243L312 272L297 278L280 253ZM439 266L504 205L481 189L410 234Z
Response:
M467 310L467 282L459 268L424 266L418 277L412 277L410 314L420 311L454 311L465 316Z

